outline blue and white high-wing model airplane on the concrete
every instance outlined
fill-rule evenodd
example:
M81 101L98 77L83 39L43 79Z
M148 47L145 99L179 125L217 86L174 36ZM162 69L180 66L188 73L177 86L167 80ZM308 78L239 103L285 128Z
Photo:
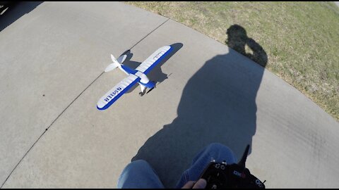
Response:
M118 59L115 59L114 56L111 54L111 58L113 63L109 64L105 69L105 72L109 72L114 70L114 68L119 68L123 72L128 75L128 77L121 80L119 84L114 86L110 91L108 91L101 99L97 102L97 109L105 110L109 108L117 99L119 99L122 94L126 93L134 84L137 82L140 84L141 92L139 93L140 96L145 94L147 88L153 89L155 87L155 82L148 80L146 76L150 70L152 70L155 65L160 63L167 54L172 51L172 46L163 46L160 49L157 49L152 55L150 55L141 65L138 66L136 69L132 69L127 67L126 65L122 64L125 59L126 55L120 56Z

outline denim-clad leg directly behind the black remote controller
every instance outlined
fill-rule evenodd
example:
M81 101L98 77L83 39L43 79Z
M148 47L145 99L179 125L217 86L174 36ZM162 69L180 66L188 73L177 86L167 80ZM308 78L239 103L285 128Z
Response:
M211 160L215 160L217 163L226 161L227 164L237 162L237 158L230 148L218 143L210 144L194 158L191 167L182 174L177 188L182 188L189 181L197 181Z

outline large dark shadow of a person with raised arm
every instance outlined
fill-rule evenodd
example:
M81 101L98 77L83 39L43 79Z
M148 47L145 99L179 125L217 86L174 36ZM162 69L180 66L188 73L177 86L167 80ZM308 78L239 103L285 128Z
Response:
M263 67L232 49L206 61L184 87L177 118L150 137L132 158L148 161L167 188L177 184L196 153L208 144L225 144L239 159L256 133L256 94L267 55L239 25L227 30L226 44L243 54L249 46L253 53L246 56Z

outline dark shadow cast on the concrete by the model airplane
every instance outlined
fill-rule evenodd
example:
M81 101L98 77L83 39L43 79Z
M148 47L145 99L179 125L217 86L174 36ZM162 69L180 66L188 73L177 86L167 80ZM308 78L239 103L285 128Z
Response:
M166 73L162 72L161 67L167 62L167 60L169 60L169 58L171 58L175 53L177 53L177 51L182 49L183 44L176 43L171 44L170 46L172 46L173 50L170 53L168 53L168 55L164 59L162 59L162 61L160 61L160 63L157 64L147 75L149 80L154 81L156 83L155 87L157 87L157 85L160 84L161 82L167 80L170 74L167 75ZM121 55L127 56L126 60L124 61L124 65L128 66L129 68L136 69L138 65L141 64L140 62L137 61L131 61L131 58L133 57L133 53L131 53L131 50L124 51L124 53L121 53ZM127 91L127 93L130 93L131 91L136 89L136 87L138 87L138 85L134 85L131 89L129 89L129 91Z

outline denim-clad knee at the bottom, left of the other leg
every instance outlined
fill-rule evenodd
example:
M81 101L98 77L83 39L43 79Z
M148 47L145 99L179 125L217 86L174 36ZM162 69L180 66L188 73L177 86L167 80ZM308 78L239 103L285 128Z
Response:
M159 177L145 160L129 163L118 179L118 189L163 189Z

